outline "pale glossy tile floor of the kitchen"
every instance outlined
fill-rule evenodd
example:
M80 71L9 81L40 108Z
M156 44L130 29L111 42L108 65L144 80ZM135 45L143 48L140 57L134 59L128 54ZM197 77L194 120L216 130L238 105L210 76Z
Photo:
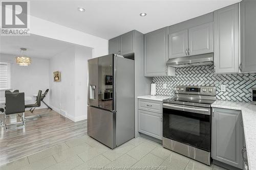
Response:
M160 144L144 138L132 139L111 150L84 135L54 147L18 159L0 167L3 169L158 169L221 170L164 149ZM125 168L126 167L126 168ZM145 169L145 168L144 168ZM148 169L148 168L147 168Z

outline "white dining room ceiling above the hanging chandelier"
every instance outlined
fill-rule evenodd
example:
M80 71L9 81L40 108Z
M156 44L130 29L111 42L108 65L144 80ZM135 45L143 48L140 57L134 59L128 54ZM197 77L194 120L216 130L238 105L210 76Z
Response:
M30 34L30 36L1 36L0 53L19 55L20 48L27 48L28 57L51 58L73 47L74 44L47 37Z

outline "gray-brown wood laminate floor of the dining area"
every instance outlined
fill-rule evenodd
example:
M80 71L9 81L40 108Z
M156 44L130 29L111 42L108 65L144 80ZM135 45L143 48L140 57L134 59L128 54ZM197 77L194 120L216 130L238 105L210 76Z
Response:
M75 123L50 109L26 111L25 116L35 114L42 117L27 120L23 129L0 127L0 166L87 134L86 120Z

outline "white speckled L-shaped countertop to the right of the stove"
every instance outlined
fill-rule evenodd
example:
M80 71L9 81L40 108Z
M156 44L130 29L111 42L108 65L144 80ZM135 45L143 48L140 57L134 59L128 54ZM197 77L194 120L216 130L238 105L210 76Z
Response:
M256 167L256 105L242 102L216 101L211 107L241 110L249 169Z

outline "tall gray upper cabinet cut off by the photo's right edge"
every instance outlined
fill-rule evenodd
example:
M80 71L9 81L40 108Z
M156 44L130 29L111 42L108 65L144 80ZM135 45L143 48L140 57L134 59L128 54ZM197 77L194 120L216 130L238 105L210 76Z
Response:
M244 0L240 5L241 68L242 72L256 71L256 1Z

